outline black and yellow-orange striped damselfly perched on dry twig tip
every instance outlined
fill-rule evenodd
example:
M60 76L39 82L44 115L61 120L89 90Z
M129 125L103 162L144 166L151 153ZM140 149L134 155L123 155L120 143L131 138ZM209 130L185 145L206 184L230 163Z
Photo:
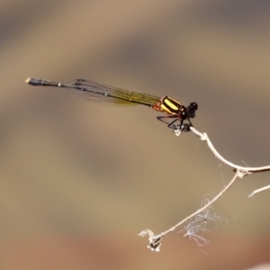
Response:
M75 91L76 94L82 95L85 99L98 103L121 106L138 104L146 105L157 112L165 112L167 115L157 116L157 119L165 122L169 128L174 130L180 129L182 131L189 131L189 128L192 126L190 119L195 117L195 111L198 109L197 103L190 103L188 106L184 106L183 103L180 103L167 95L157 97L151 94L130 92L128 90L95 83L85 79L76 79L76 81L70 85L35 78L28 78L26 83L29 85L69 88ZM166 119L174 120L167 122ZM178 120L180 121L180 125L176 126L175 121ZM185 120L188 121L188 123L184 123Z

